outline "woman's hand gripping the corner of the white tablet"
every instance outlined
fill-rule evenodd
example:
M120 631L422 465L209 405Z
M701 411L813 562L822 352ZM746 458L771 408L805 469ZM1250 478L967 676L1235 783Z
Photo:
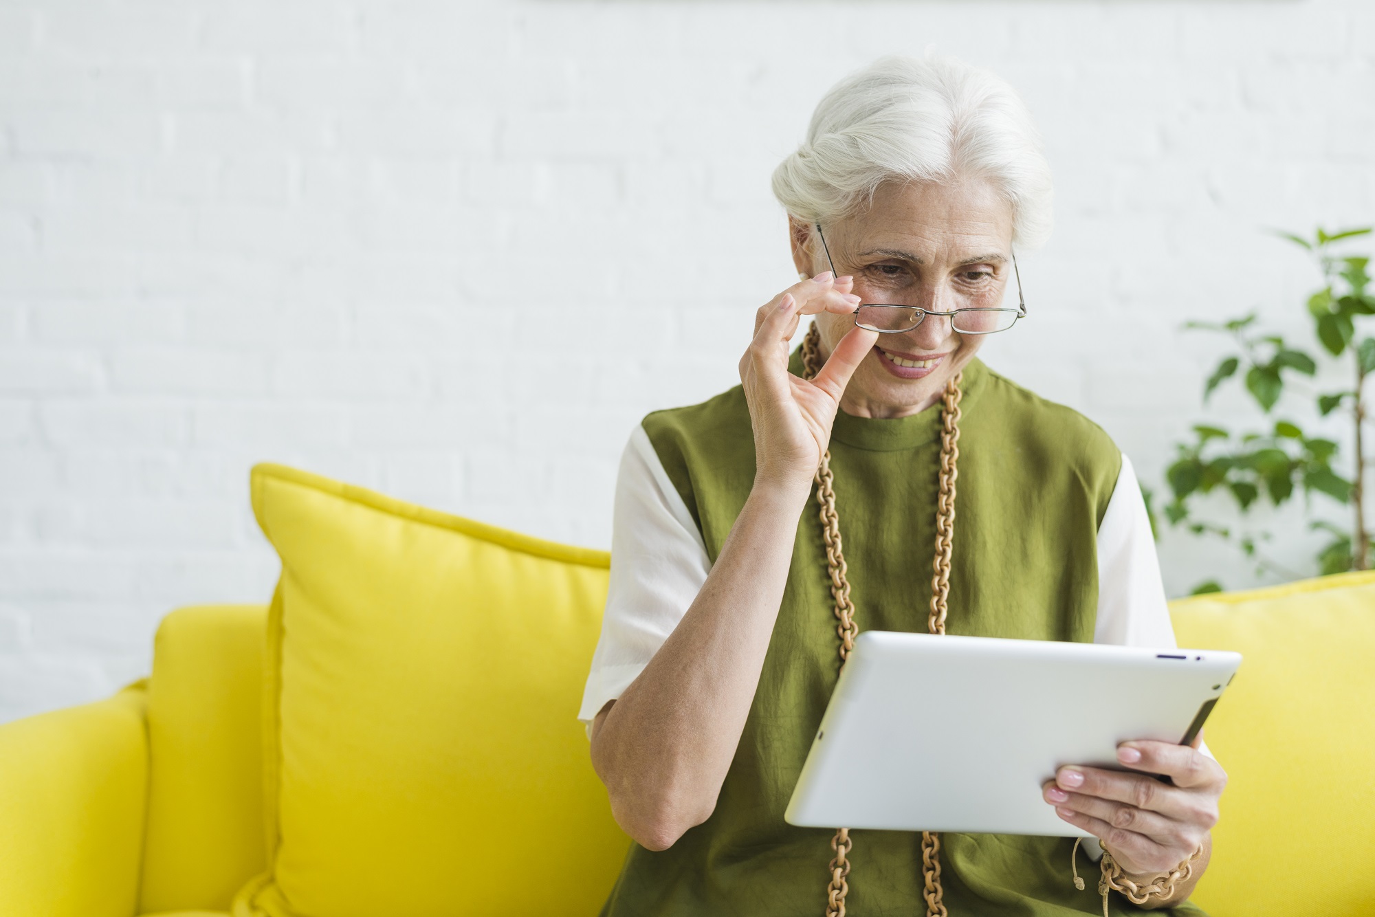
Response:
M1123 742L1118 762L1143 773L1062 767L1042 789L1044 799L1060 818L1103 841L1126 872L1144 876L1174 869L1217 824L1217 800L1226 785L1222 767L1198 751L1200 740L1194 747Z

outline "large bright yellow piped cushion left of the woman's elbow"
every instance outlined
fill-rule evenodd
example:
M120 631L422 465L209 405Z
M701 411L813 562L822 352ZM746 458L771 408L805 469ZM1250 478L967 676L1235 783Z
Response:
M576 720L605 553L261 465L268 872L234 913L594 913L628 841Z

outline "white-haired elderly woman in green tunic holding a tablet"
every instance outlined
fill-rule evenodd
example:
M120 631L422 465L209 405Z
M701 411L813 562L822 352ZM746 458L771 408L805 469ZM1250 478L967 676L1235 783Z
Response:
M741 385L646 417L620 466L580 718L637 843L602 913L1180 905L1225 782L1198 748L1125 742L1123 770L1064 767L1044 788L1101 840L1111 902L1071 884L1067 837L851 839L784 822L859 627L1159 648L1174 635L1126 456L976 357L1026 315L1013 254L1050 224L1049 168L1016 93L956 60L879 60L821 100L773 184L802 279L755 316Z

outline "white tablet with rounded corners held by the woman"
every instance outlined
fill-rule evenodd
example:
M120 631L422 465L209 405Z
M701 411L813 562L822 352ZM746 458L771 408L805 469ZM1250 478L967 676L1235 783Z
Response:
M1088 836L1041 786L1119 742L1188 744L1238 653L866 631L784 818L803 828Z

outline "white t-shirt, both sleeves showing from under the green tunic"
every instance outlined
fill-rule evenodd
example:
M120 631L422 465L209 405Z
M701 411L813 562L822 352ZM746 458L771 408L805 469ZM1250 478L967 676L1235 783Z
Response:
M1126 455L1099 525L1097 553L1093 642L1174 649L1151 521ZM590 726L639 676L710 572L697 524L645 428L637 426L616 478L606 613L578 719Z

